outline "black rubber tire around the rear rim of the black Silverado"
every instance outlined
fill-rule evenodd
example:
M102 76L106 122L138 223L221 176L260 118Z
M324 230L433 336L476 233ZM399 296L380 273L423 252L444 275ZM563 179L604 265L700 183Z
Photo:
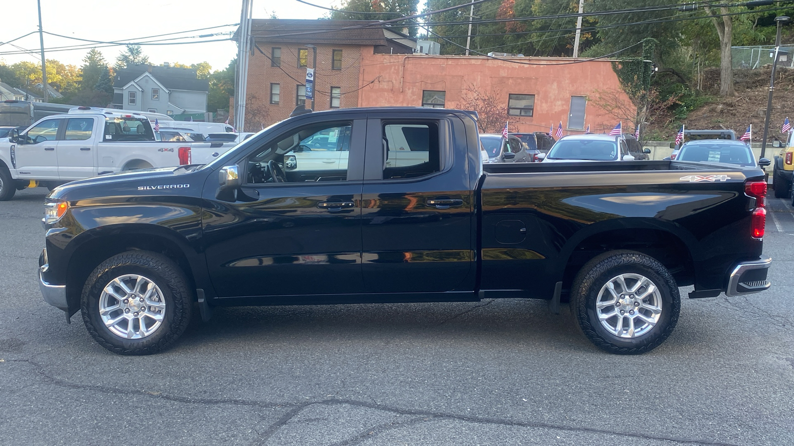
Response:
M661 313L655 325L649 325L646 333L638 336L621 337L611 333L602 325L596 313L596 303L602 288L623 274L641 275L648 279L658 291L658 295L650 294L649 299L661 301L661 306L659 306ZM647 290L647 288L641 287L638 290ZM634 294L631 294L631 297L634 298ZM631 305L630 299L626 298L626 302L628 302L627 306L621 307L626 310L625 316L619 316L617 308L604 307L604 310L615 310L615 328L618 326L618 317L621 319L622 326L624 321L638 317L641 310L646 317L650 313L643 303L634 302L634 305L637 306L634 307ZM665 342L670 333L673 333L678 322L681 298L678 294L676 279L673 279L673 275L657 260L640 252L611 251L596 256L582 267L571 287L570 305L572 316L582 333L597 347L619 355L638 355L657 348ZM635 314L634 310L628 310L629 308L638 308L639 310L636 311L635 316L629 316L628 311ZM611 324L609 321L612 320L613 318L607 319L605 323ZM640 323L642 324L644 321L640 321ZM631 326L634 328L634 325Z

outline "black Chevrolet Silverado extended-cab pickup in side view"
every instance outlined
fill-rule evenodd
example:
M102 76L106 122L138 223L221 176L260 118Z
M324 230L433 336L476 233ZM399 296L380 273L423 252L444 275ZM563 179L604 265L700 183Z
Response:
M569 300L599 348L642 353L672 333L679 286L769 288L765 193L727 164L484 167L470 112L303 113L204 166L56 188L40 286L125 355L172 344L196 307L484 298Z

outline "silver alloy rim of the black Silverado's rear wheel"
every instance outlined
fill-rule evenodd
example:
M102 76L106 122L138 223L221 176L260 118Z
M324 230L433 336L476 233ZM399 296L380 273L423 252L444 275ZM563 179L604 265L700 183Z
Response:
M644 275L618 275L601 287L595 300L595 313L603 328L615 336L642 336L661 317L661 293Z

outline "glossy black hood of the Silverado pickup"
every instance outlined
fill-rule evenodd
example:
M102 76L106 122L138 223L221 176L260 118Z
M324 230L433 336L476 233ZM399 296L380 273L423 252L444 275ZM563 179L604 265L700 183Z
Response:
M63 186L58 186L48 195L49 198L63 198L71 191L91 189L94 194L99 190L106 191L107 195L122 193L129 190L168 190L168 189L187 189L188 187L200 187L202 183L196 183L195 174L192 170L194 166L179 167L160 167L156 169L145 169L139 171L123 171L113 174L98 175L87 179L79 179ZM144 189L140 189L143 187Z

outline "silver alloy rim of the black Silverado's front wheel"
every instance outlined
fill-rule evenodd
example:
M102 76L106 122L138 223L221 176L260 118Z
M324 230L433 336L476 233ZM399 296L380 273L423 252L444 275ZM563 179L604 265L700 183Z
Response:
M137 274L121 275L102 290L99 316L115 335L142 339L162 325L165 298L152 280Z

